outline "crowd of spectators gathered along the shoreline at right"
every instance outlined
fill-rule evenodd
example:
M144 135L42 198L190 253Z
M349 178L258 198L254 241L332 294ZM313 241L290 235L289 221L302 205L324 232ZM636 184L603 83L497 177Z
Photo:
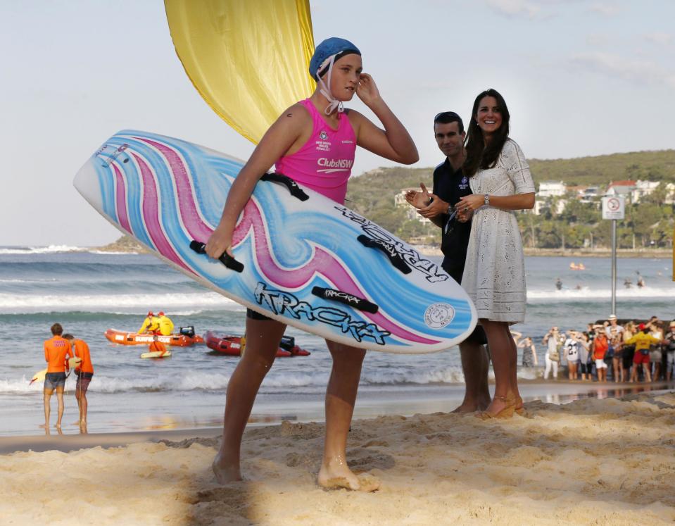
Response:
M518 334L516 333L517 337ZM523 365L530 365L529 353L536 348L524 347ZM544 335L544 380L558 369L567 367L569 380L598 380L598 382L656 382L670 381L675 367L675 320L665 323L656 316L645 322L627 320L619 325L610 315L602 324L589 323L586 330L560 330L553 326ZM528 363L526 364L526 356ZM536 363L534 364L536 365Z

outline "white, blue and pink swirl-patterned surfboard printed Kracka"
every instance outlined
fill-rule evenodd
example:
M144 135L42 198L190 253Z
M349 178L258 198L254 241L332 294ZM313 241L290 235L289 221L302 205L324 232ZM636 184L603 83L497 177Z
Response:
M301 330L391 353L442 351L472 332L474 306L439 265L282 177L258 182L234 232L234 263L199 253L243 165L179 139L125 130L89 158L74 184L172 267Z

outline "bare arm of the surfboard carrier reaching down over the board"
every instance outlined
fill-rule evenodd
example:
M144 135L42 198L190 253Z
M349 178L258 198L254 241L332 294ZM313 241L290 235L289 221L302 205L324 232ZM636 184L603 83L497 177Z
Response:
M236 220L251 198L256 183L301 137L309 120L305 108L295 104L284 111L265 132L229 189L220 223L206 243L206 253L210 257L219 258L226 250L229 253Z

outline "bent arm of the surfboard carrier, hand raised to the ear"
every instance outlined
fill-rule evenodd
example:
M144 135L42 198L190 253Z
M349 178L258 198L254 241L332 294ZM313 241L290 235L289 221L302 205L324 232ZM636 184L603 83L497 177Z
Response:
M382 100L374 80L367 73L361 73L356 94L384 126L384 130L381 130L358 111L350 110L349 120L354 128L357 144L390 161L417 163L419 154L415 142L412 142L408 130Z

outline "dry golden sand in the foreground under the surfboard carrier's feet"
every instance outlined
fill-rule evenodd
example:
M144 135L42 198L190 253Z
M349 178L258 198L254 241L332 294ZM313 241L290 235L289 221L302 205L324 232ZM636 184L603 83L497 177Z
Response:
M487 422L450 413L356 420L350 465L381 480L374 494L317 487L317 422L250 427L247 480L225 487L210 471L217 429L4 438L0 516L17 525L675 520L674 392L526 410Z

